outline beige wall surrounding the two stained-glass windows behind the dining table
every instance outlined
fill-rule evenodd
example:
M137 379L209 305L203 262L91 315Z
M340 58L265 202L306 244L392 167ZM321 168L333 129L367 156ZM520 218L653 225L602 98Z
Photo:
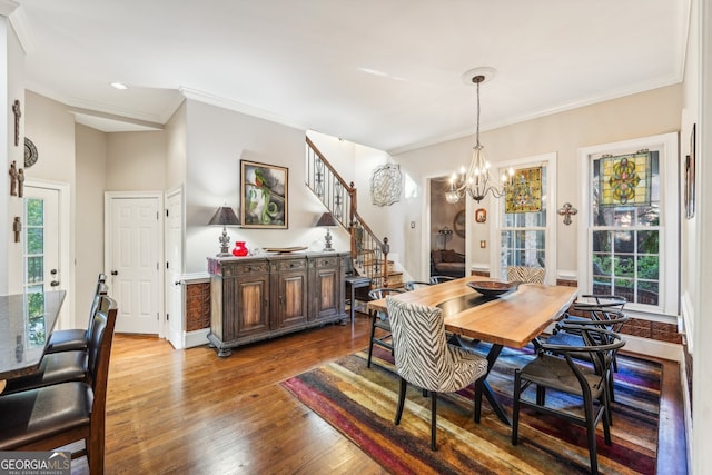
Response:
M682 87L671 86L627 96L621 99L582 107L535 120L488 130L481 133L487 159L496 167L498 161L514 160L545 152L558 155L558 179L556 208L568 201L578 206L577 150L581 147L632 139L656 133L676 131L680 127L682 109ZM419 185L419 192L407 200L406 206L396 210L390 219L409 220L413 210L425 210L423 188L432 177L446 176L469 160L473 137L413 150L394 156L402 169ZM483 201L487 208L487 201ZM425 210L429 212L429 210ZM474 219L472 212L468 219ZM485 227L490 226L488 219ZM405 229L402 222L399 229ZM557 220L557 271L567 275L576 273L576 229L574 217L571 226ZM477 234L468 236L468 253L478 256L474 261L488 261L488 256L479 249L481 236L488 236L488 228L477 227ZM422 249L427 248L425 239L406 239L405 232L394 234L392 247L404 249L406 260L414 268L424 268ZM481 260L482 259L482 260Z

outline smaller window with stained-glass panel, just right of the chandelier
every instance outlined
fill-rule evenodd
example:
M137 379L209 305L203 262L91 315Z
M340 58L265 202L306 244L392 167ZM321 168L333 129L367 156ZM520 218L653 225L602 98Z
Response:
M555 160L556 154L547 154L502 164L500 175L510 167L515 170L516 192L496 201L498 256L493 259L497 263L497 268L493 270L496 270L500 278L506 278L510 266L525 266L552 269L546 273L546 281L556 281L553 220L550 216L550 204L554 198L553 190L548 187L555 180ZM534 195L534 201L541 198L541 205L532 205L530 199L520 199L530 195ZM511 202L512 200L515 202Z

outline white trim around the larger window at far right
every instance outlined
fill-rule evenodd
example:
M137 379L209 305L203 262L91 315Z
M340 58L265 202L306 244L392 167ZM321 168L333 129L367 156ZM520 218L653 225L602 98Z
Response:
M591 265L591 157L602 154L621 155L630 150L660 150L661 222L660 222L660 303L657 306L629 304L625 308L647 314L676 316L680 295L680 179L679 133L669 132L601 144L578 149L578 289L586 294L592 289Z

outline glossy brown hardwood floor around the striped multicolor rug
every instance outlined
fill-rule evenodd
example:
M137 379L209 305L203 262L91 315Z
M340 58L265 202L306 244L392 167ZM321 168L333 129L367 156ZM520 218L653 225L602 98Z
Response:
M108 474L385 474L378 464L304 407L278 383L368 344L369 321L323 328L238 348L174 350L165 340L115 337L106 429ZM668 364L666 375L676 365ZM668 368L668 366L666 366ZM680 398L665 379L659 459L684 461ZM666 403L665 403L666 402ZM675 407L680 405L680 407ZM671 419L672 418L672 419ZM672 448L671 448L672 447ZM680 452L682 449L682 452ZM85 458L72 473L86 474ZM659 473L673 473L671 471ZM678 472L674 473L684 473Z

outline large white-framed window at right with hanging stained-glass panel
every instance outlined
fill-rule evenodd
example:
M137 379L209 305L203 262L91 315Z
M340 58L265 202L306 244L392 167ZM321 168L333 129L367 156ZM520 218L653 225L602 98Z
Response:
M676 313L676 135L582 149L580 286ZM582 235L583 234L583 235Z

